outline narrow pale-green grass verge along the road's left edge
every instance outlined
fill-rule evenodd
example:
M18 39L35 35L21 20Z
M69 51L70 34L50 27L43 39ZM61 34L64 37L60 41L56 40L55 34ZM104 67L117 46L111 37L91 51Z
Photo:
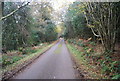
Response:
M12 64L8 64L5 67L2 67L2 79L6 80L12 77L14 74L25 68L27 65L32 63L35 59L37 59L41 54L46 52L48 49L50 49L56 42L45 45L40 49L37 49L35 53L31 53L24 57L18 57L14 56L14 58L19 58Z

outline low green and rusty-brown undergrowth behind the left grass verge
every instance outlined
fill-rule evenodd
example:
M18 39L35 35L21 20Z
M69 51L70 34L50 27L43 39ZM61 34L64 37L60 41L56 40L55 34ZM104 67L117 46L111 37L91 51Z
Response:
M6 67L8 65L11 65L35 52L40 50L40 48L43 48L47 46L47 43L43 43L39 46L34 46L34 47L26 47L26 48L19 48L16 51L9 51L7 54L2 55L2 67Z

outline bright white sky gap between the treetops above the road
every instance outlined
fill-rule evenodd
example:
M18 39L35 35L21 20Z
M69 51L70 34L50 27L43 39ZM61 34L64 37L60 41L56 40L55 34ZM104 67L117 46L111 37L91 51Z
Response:
M52 17L53 21L56 24L60 24L63 20L63 17L66 13L67 8L69 7L69 4L73 3L76 0L31 0L33 2L50 2L53 7ZM32 4L31 3L31 4Z

